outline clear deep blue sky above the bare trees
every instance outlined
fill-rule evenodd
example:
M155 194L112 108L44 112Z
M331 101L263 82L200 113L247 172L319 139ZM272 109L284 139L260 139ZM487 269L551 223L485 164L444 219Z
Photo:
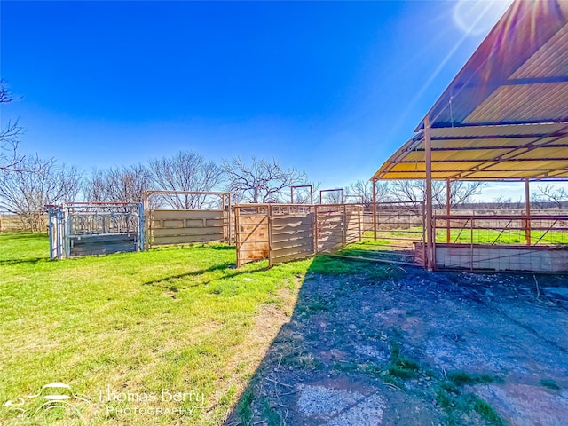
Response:
M0 2L25 154L84 170L190 150L368 179L510 1ZM485 11L485 13L482 13Z

